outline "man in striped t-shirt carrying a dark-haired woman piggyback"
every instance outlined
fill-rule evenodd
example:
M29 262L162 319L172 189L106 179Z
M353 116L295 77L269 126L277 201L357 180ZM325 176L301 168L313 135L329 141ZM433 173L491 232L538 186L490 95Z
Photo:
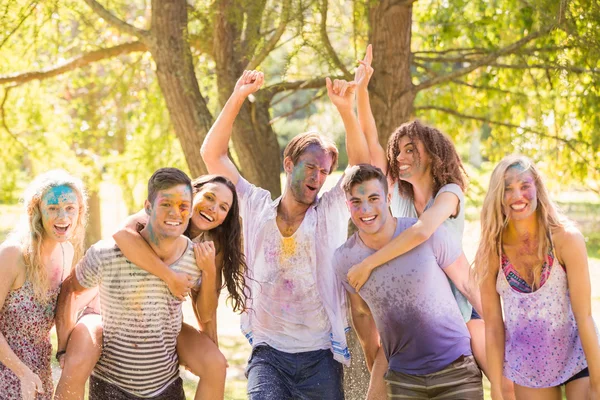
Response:
M192 243L182 236L190 218L189 177L162 168L148 182L148 224L140 232L172 269L200 284ZM181 301L166 283L126 259L112 241L93 245L63 284L80 294L98 286L103 324L102 356L90 378L90 400L184 399L176 352ZM72 328L73 297L65 296L59 314Z

